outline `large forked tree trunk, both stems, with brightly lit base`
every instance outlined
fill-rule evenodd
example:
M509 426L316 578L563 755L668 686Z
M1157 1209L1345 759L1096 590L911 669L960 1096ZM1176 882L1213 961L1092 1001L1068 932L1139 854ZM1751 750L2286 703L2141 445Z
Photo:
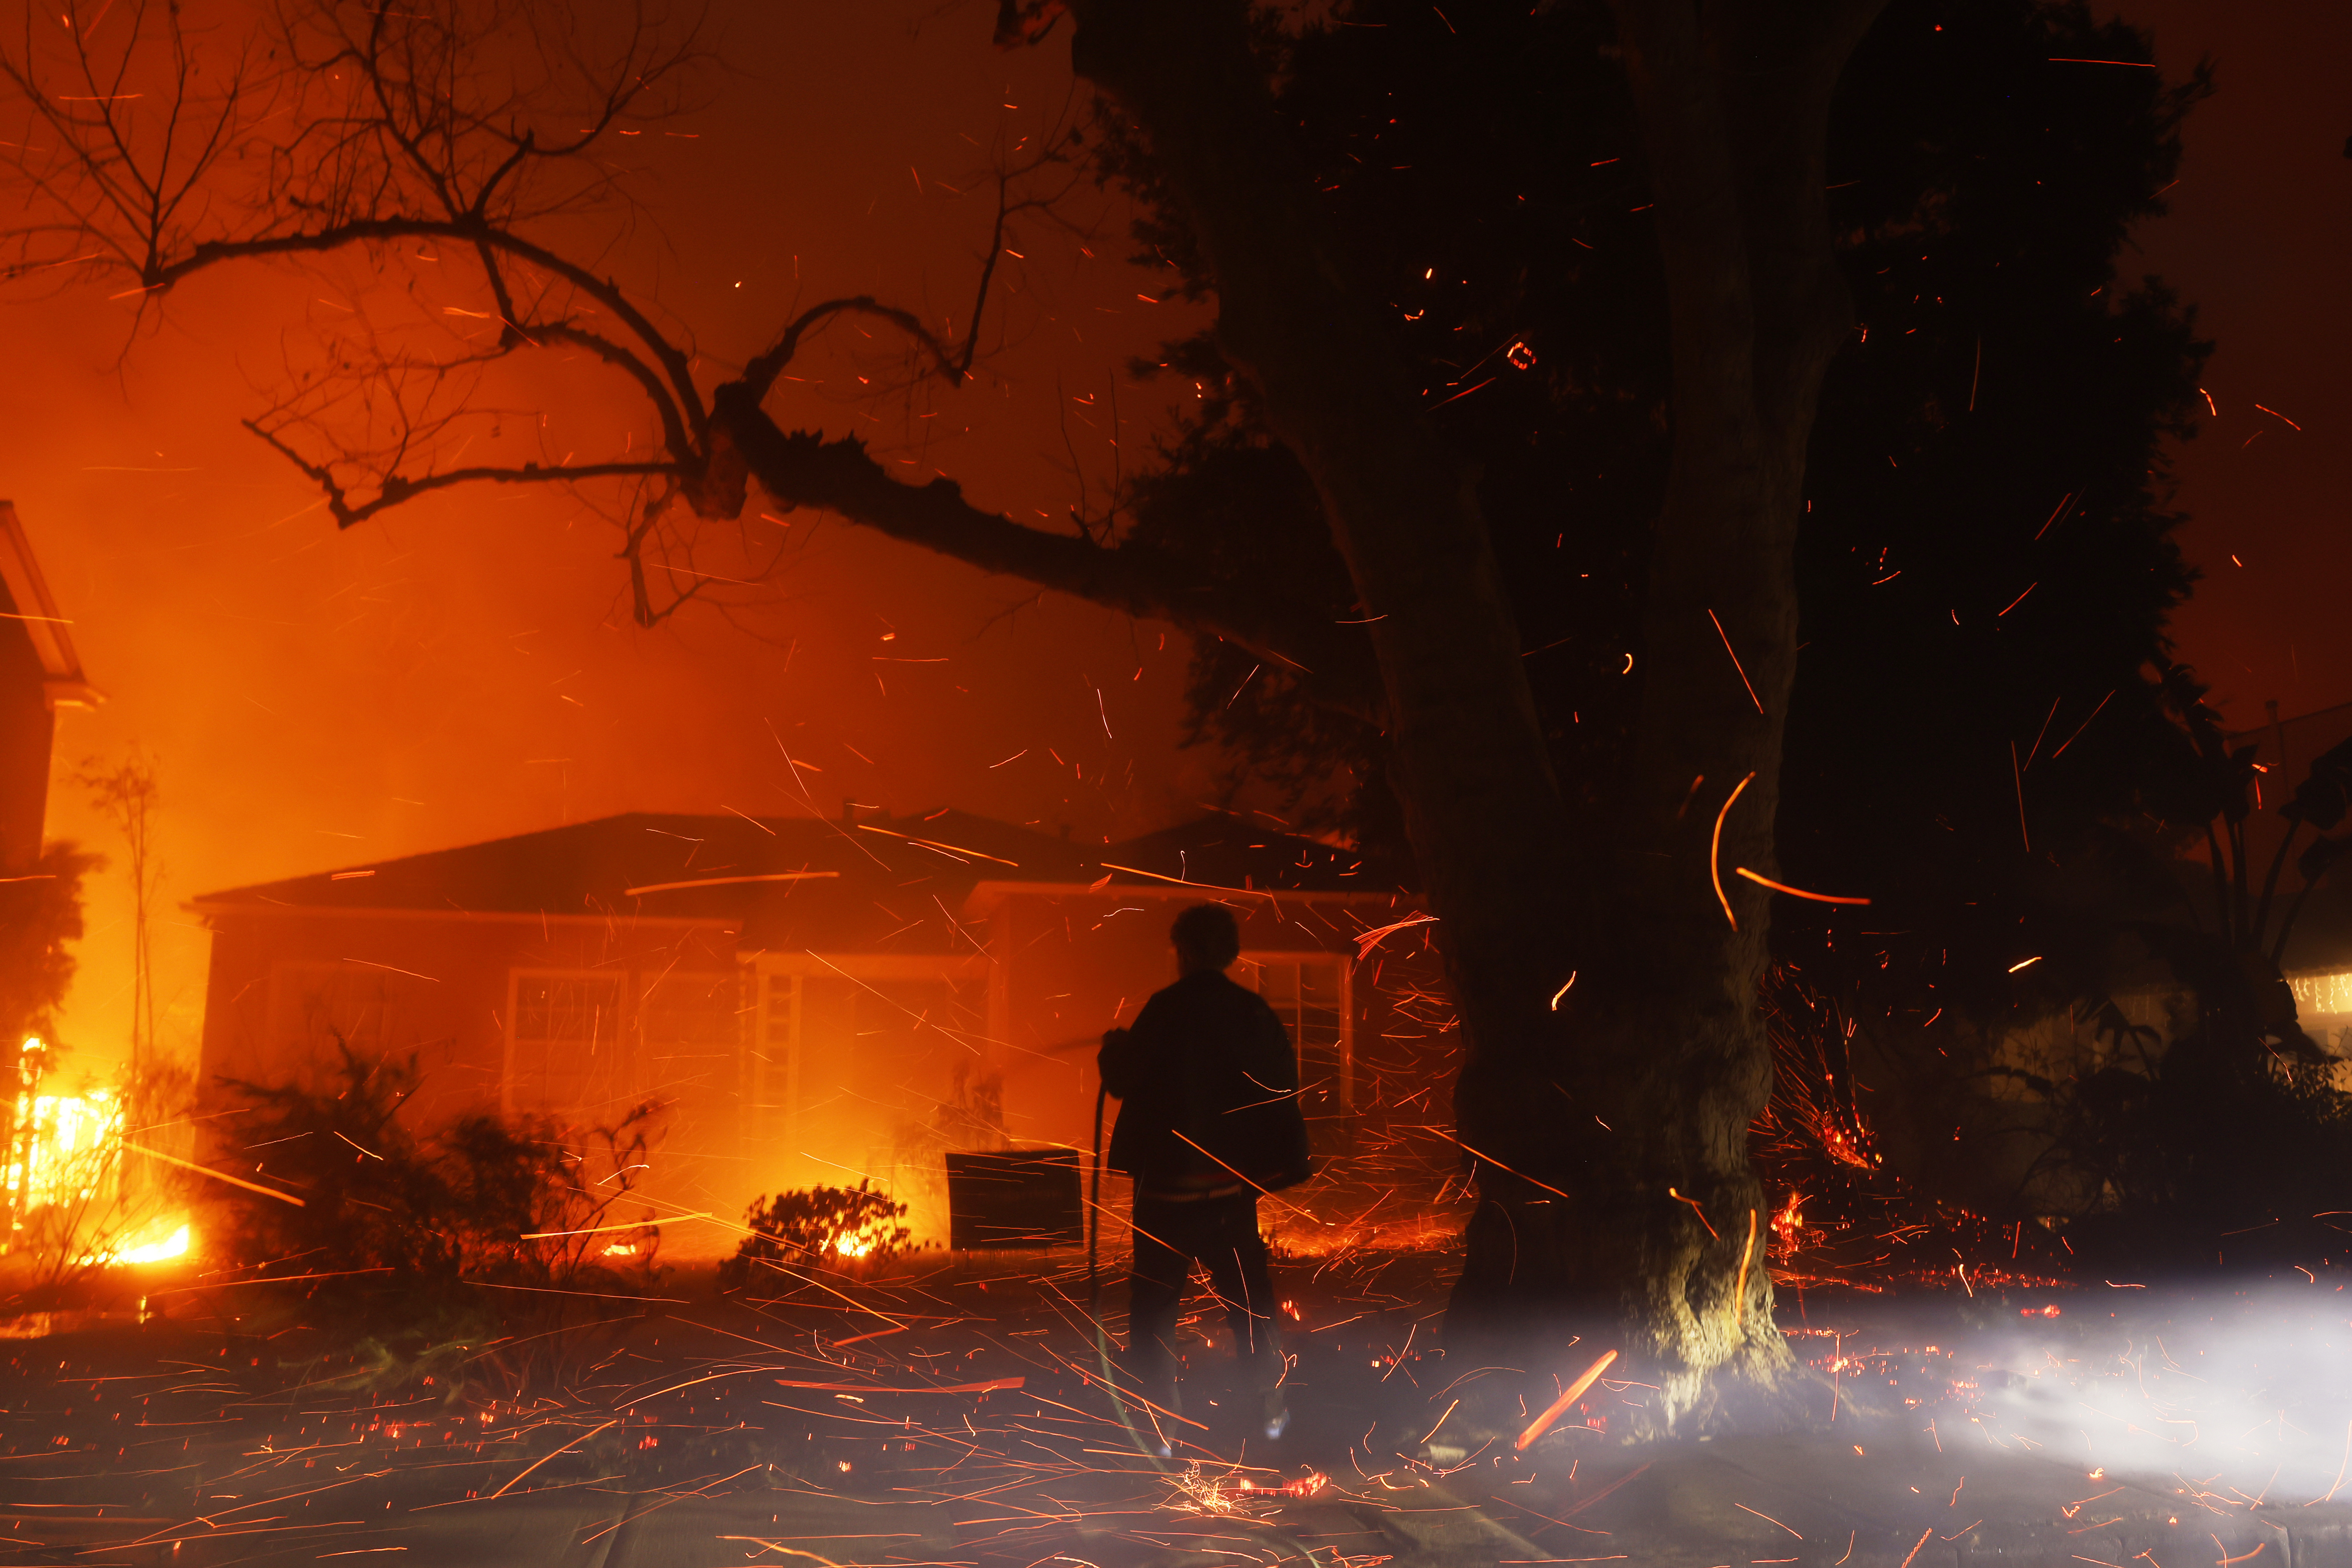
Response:
M1623 0L1670 277L1675 461L1642 719L1592 818L1571 818L1552 773L1475 477L1324 249L1244 7L1073 9L1077 71L1185 202L1221 346L1315 480L1374 618L1395 785L1468 1039L1456 1105L1482 1204L1449 1340L1618 1349L1658 1389L1642 1432L1799 1418L1748 1159L1771 1086L1769 896L1733 867L1773 867L1804 447L1844 334L1823 141L1870 7L1764 26L1748 16L1764 7L1710 5L1703 26L1691 0Z

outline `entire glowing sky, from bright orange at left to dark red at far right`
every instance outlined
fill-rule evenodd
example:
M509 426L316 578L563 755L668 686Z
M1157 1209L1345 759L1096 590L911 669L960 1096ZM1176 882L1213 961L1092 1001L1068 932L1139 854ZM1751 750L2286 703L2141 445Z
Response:
M950 186L985 176L1000 127L1037 129L1070 103L1065 38L1000 54L983 0L717 9L729 75L675 127L694 139L644 139L659 237L623 249L623 280L717 364L764 348L795 299L873 292L962 313L988 207ZM2272 696L2321 708L2352 696L2336 595L2352 574L2352 12L2138 0L2126 14L2157 28L2166 71L2213 54L2223 87L2192 118L2173 216L2140 235L2147 270L2220 339L2220 418L2180 458L2183 541L2206 571L2183 651L2239 719ZM1120 367L1188 317L1138 301L1152 280L1120 261L1124 216L1101 216L1094 259L1042 230L1016 237L1033 261L1009 263L997 296L1007 346L974 386L924 404L938 409L929 461L1016 520L1073 503L1065 430L1101 496L1112 378L1129 468L1174 395ZM804 809L771 729L823 769L823 811L953 802L1124 835L1209 797L1211 759L1176 748L1181 637L840 522L797 517L790 569L734 625L689 614L654 632L628 625L609 527L560 494L456 494L339 536L235 423L263 404L280 336L313 296L287 270L200 280L129 353L125 308L87 292L5 306L0 494L111 693L61 717L59 769L136 743L167 792L167 1044L193 1046L202 1018L205 933L181 900L612 811ZM835 381L856 369L818 362ZM562 393L581 447L628 428L619 395L597 416L593 395ZM906 400L788 388L771 409L894 451L922 433ZM68 785L49 832L113 849ZM125 922L106 872L64 1027L87 1063L125 1034Z

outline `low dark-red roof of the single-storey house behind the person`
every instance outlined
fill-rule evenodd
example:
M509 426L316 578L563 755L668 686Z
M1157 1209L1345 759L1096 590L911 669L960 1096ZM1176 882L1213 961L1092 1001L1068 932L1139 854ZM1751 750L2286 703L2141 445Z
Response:
M1240 818L1202 818L1122 844L1087 846L967 811L849 820L633 811L487 844L285 877L193 900L202 914L414 912L590 914L724 922L748 943L823 929L835 950L898 931L896 945L950 945L934 900L960 907L981 884L1112 886L1202 893L1367 889L1355 856ZM790 938L783 938L790 940Z

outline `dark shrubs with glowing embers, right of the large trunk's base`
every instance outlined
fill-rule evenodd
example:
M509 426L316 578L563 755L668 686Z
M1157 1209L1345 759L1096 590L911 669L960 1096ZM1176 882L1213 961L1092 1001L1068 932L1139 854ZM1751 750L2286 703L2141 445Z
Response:
M2279 806L2288 835L2263 853L2249 844L2253 748L2230 741L2185 668L2161 665L2157 691L2171 722L2154 738L2166 755L2147 771L2145 830L2110 835L2112 875L2072 882L2067 919L2039 933L2063 947L2020 964L2006 1016L1858 1030L1851 997L1776 971L1778 1081L1757 1159L1773 1201L1813 1222L1788 1241L1811 1246L1816 1279L1870 1251L1886 1267L1889 1239L1992 1281L2284 1269L2340 1251L2321 1215L2352 1208L2352 1093L2300 1027L2279 954L2352 844L2347 832L2296 851L2305 827L2343 823L2352 741L2312 759ZM2204 863L2173 858L2180 844ZM2288 860L2303 882L2281 898ZM2161 1023L2119 1006L2103 983L2112 952L2140 959ZM2037 1009L2051 1013L2039 1053L2013 1034ZM1867 1112L1856 1048L1879 1091Z

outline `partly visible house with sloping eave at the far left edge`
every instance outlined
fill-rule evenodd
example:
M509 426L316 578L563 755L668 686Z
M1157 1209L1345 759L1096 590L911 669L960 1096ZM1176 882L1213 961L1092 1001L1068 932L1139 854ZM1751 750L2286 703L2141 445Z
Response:
M0 501L0 867L40 858L56 710L101 701L66 625L16 508Z

